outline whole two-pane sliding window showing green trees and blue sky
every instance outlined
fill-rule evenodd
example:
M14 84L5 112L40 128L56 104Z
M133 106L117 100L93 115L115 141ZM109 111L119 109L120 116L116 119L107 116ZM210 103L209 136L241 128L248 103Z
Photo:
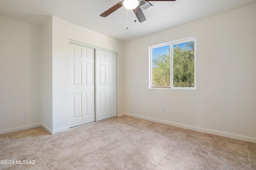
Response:
M149 47L149 88L196 89L196 38Z

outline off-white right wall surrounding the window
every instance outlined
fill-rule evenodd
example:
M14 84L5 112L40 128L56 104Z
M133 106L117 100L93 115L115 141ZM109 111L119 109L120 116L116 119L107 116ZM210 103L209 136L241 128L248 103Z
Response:
M256 4L124 43L126 115L255 143L255 18ZM196 90L148 89L148 47L191 36Z

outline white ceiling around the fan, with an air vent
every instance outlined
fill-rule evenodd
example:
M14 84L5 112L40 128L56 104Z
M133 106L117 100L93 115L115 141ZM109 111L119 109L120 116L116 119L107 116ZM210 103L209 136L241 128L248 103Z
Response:
M51 16L126 42L190 21L256 3L256 0L154 1L144 10L147 20L134 22L135 15L119 8L106 18L100 14L122 0L0 0L0 16L42 26Z

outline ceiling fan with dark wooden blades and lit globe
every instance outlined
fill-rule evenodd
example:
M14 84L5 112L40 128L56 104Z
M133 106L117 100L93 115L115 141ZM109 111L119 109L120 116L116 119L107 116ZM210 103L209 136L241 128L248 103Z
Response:
M146 17L144 16L142 9L140 8L140 1L145 1L145 0L122 0L122 2L118 2L116 5L112 6L100 16L106 17L109 14L112 14L112 12L116 11L119 9L121 6L124 6L124 8L128 10L133 10L136 17L138 18L139 22L146 21ZM176 0L150 0L150 1L176 1Z

